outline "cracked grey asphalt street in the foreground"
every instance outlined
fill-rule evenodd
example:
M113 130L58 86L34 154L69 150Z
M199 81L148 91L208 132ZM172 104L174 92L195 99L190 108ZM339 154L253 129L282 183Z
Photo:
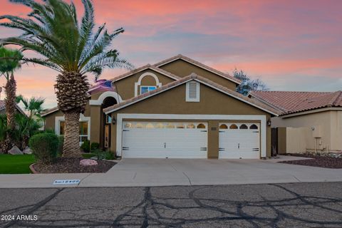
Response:
M342 227L342 182L0 189L0 199L0 227Z

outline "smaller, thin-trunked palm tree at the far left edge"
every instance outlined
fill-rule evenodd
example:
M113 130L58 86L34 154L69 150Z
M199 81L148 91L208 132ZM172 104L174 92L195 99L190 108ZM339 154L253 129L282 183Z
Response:
M7 152L14 145L13 133L16 127L16 80L14 79L14 71L20 68L20 61L23 54L18 50L0 47L0 76L6 78L5 86L5 108L7 118L6 140L4 142L4 151Z

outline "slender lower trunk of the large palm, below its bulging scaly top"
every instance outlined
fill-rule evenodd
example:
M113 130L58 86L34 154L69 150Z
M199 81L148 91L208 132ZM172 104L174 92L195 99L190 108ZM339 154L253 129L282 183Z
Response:
M80 150L80 113L71 111L64 113L65 128L64 128L64 144L63 157L81 157Z

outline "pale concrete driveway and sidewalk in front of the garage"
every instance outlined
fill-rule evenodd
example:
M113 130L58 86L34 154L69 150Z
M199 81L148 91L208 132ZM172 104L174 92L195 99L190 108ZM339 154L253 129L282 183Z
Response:
M239 185L286 182L342 182L342 169L277 163L271 160L124 159L107 173L0 175L0 188L137 187L172 185ZM53 185L78 179L78 185Z

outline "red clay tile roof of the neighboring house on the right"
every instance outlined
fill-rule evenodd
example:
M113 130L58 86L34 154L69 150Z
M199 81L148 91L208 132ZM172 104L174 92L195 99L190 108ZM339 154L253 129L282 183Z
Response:
M300 113L318 108L342 107L342 91L252 91L249 93L249 96L279 109L281 115Z

